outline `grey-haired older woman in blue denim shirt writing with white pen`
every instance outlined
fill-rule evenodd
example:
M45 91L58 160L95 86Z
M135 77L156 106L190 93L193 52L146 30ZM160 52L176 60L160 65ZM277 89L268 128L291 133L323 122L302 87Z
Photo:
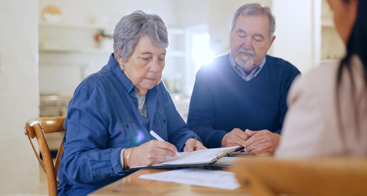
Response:
M161 82L167 26L157 14L120 19L107 65L76 88L65 120L58 195L86 195L176 152L205 149ZM154 140L155 131L168 142Z

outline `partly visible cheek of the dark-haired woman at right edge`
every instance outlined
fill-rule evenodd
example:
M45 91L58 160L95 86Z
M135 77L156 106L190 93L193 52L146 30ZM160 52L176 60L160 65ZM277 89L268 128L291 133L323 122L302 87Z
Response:
M357 18L358 0L328 0L328 3L334 11L335 28L346 44Z

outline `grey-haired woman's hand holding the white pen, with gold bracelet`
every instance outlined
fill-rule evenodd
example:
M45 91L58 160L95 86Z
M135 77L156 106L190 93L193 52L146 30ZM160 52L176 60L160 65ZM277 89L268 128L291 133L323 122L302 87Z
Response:
M126 149L133 150L130 152L130 158L127 161L128 167L134 167L139 165L154 165L162 163L164 160L166 160L166 156L174 157L176 156L177 148L168 142L161 142L158 140L150 140L149 142L143 143L140 146L134 147L134 149ZM128 154L128 152L124 155ZM124 156L124 158L127 158Z

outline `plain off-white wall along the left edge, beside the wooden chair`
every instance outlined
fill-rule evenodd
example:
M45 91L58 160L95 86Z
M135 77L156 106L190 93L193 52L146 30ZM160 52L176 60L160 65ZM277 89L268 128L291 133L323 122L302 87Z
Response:
M39 166L25 121L39 116L38 1L0 1L0 195L37 193Z

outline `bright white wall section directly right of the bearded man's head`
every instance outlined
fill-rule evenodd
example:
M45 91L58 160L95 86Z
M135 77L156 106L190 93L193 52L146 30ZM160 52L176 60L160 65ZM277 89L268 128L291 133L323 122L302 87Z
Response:
M320 39L320 35L316 35L319 32L314 28L313 1L273 0L276 16L273 55L289 61L302 73L309 71L317 64L316 58L319 59L315 39Z

